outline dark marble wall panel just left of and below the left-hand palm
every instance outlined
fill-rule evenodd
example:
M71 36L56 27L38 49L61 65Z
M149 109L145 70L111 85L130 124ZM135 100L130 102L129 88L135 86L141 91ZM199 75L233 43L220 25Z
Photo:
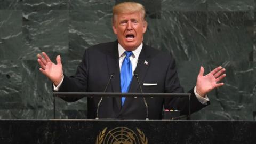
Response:
M26 109L52 109L51 82L39 72L36 60L22 61L22 103Z

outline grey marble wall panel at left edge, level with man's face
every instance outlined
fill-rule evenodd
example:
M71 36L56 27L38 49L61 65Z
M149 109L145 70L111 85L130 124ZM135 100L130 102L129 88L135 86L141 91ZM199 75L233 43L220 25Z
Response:
M21 10L0 10L0 60L17 60L26 51Z

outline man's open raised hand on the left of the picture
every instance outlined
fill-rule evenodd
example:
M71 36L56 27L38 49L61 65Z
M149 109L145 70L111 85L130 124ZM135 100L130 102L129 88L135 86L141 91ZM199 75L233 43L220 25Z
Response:
M63 77L60 55L56 57L57 64L53 63L45 52L42 52L42 55L44 58L40 54L37 54L37 61L41 67L39 70L47 76L55 86L59 85Z

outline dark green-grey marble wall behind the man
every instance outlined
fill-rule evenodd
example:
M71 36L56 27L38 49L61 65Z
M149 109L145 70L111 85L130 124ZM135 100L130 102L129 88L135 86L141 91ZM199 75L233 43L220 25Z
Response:
M83 51L114 41L111 7L121 1L1 0L0 119L49 119L51 82L39 72L37 53L60 54L65 74L75 73ZM253 0L138 1L149 23L145 42L171 52L185 90L199 67L227 69L226 85L209 93L211 105L193 119L253 120L256 111ZM86 118L86 99L57 99L58 118Z

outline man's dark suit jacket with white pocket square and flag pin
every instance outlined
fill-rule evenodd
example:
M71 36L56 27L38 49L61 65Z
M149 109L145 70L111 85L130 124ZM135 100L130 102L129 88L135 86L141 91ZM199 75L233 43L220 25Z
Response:
M145 64L145 60L148 65ZM145 93L183 93L180 86L175 61L169 53L162 52L143 44L139 61L135 69ZM64 77L59 91L68 92L103 92L110 75L114 77L107 92L121 92L118 59L118 42L94 45L85 50L82 62L78 65L76 75ZM157 83L143 86L143 83ZM137 79L133 77L129 92L140 92ZM205 107L191 93L191 111ZM87 98L88 118L95 118L100 98ZM77 99L65 99L75 101ZM149 107L149 119L162 119L165 109L178 109L181 115L188 114L188 98L146 98ZM209 104L209 103L207 103ZM99 108L99 118L145 119L146 107L142 98L126 98L121 106L121 98L103 98Z

